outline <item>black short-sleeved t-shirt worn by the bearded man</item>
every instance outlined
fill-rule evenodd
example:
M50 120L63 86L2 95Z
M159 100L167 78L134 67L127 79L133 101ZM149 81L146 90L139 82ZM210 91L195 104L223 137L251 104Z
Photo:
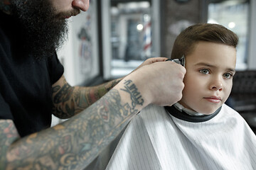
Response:
M21 137L50 127L52 89L63 74L57 55L23 52L18 21L0 11L0 119L14 120Z

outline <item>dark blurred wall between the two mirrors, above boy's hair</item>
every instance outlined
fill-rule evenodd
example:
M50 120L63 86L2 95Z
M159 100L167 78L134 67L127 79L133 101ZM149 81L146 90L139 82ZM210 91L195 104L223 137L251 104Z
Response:
M181 30L202 21L201 0L177 2L161 0L161 56L170 57L174 40Z

